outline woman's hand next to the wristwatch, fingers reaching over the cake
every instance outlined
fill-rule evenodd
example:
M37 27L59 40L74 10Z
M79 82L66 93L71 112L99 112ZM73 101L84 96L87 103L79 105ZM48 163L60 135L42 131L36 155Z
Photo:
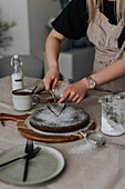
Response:
M70 84L64 91L58 103L63 102L65 99L67 101L75 101L80 103L87 92L86 78Z

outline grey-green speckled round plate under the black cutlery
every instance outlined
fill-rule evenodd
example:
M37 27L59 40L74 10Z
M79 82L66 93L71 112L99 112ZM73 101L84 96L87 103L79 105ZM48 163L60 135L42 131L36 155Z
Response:
M37 145L34 145L37 147ZM63 155L54 148L40 146L42 149L29 162L28 179L22 181L24 162L19 160L0 168L0 180L18 186L31 186L49 181L56 177L64 168ZM24 146L17 146L0 153L0 163L24 155Z

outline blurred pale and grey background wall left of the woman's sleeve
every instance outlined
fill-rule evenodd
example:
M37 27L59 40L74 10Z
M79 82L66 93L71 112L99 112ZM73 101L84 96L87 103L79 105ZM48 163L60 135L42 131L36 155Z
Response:
M42 51L50 32L46 22L60 11L58 0L0 0L1 20L17 22L8 31L13 41L4 54L33 54L43 59Z

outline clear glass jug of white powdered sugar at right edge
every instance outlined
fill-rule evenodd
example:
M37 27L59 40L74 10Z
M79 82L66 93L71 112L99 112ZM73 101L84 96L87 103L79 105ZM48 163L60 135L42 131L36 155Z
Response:
M103 96L101 131L108 136L121 136L125 132L125 92Z

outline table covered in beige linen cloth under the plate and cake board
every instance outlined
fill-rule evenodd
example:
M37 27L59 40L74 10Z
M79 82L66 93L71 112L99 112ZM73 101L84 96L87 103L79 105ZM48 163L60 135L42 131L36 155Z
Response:
M24 86L34 86L38 79L24 77ZM96 130L101 127L101 105L97 99L107 94L105 91L92 90L76 107L86 110L96 123ZM17 113L11 99L11 78L0 79L0 112ZM72 105L72 102L70 102ZM44 107L39 103L35 109ZM6 121L6 127L0 123L0 151L18 145L24 145L27 139L17 131L17 123ZM101 132L101 131L100 131ZM107 141L125 143L125 135L121 137L107 137ZM37 188L48 189L123 189L125 186L125 150L107 146L104 148L85 149L85 140L76 140L64 143L45 143L61 151L66 160L64 171L53 180ZM80 150L81 149L81 150ZM22 187L11 186L0 182L1 189L18 189ZM30 188L30 187L23 187ZM35 187L33 187L35 188Z

